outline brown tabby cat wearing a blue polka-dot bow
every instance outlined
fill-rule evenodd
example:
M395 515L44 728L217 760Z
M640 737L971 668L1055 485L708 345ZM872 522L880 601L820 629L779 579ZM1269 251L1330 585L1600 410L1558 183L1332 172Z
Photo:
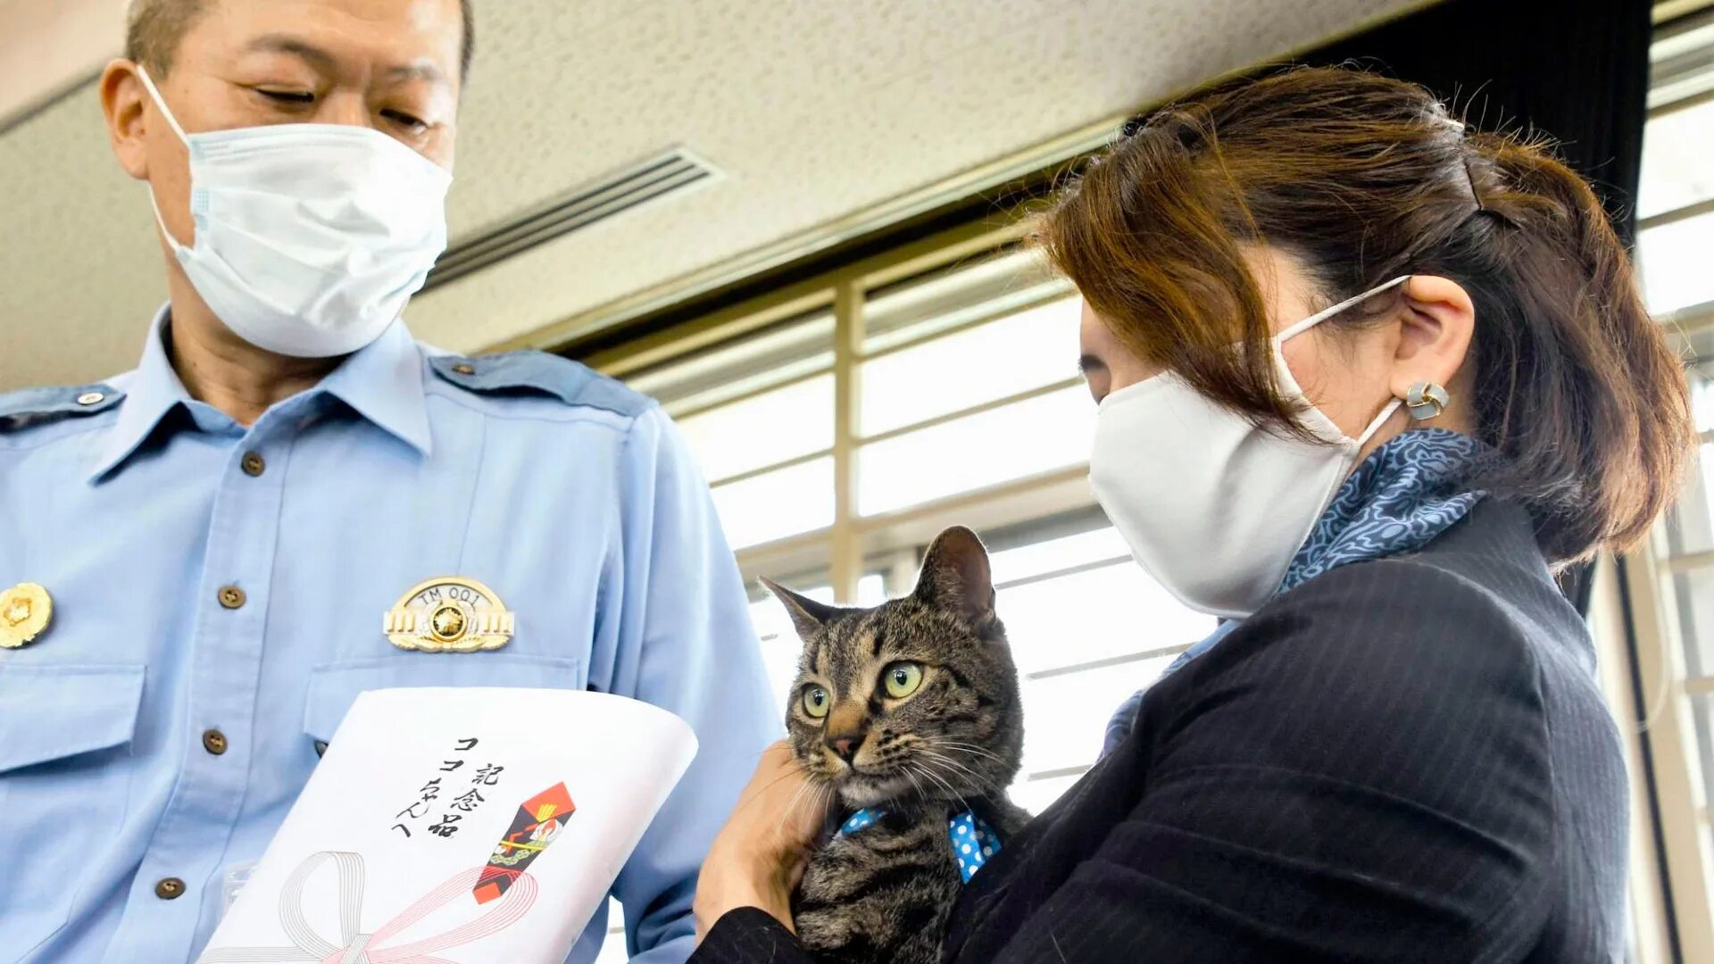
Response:
M792 901L797 935L830 961L932 962L963 885L960 863L974 873L982 861L972 832L1003 846L1028 820L1006 798L1023 710L987 551L968 528L943 532L917 588L872 609L768 588L804 640L787 710L792 750L811 791L831 801Z

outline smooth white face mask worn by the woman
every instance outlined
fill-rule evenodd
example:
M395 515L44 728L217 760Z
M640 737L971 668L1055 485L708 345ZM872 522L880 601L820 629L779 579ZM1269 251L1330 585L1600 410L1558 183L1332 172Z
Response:
M1349 437L1309 405L1280 345L1407 280L1339 302L1272 340L1287 403L1321 443L1280 436L1210 401L1172 372L1100 401L1090 485L1131 556L1191 609L1244 618L1274 595L1297 549L1363 446L1402 405L1381 408L1361 437Z

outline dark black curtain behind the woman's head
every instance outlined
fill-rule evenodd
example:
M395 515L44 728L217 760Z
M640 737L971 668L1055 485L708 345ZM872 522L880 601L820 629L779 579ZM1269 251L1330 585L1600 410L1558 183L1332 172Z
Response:
M1416 81L1479 129L1553 137L1628 244L1652 29L1644 0L1447 0L1299 60ZM1572 566L1560 587L1587 614L1591 568Z

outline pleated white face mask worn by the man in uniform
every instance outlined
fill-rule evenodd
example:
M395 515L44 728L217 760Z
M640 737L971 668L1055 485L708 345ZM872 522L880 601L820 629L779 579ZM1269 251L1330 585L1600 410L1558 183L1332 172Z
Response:
M185 134L149 74L137 75L190 151L194 244L173 237L158 206L154 216L214 316L302 358L379 338L446 250L452 175L370 127Z

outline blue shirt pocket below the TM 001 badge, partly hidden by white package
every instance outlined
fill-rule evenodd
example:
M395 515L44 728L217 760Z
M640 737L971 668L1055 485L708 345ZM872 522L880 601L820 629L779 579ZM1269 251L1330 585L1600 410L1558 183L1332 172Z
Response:
M331 662L310 671L303 700L303 732L333 741L351 702L365 690L396 686L540 686L583 690L583 664L571 657L523 654L406 654Z

